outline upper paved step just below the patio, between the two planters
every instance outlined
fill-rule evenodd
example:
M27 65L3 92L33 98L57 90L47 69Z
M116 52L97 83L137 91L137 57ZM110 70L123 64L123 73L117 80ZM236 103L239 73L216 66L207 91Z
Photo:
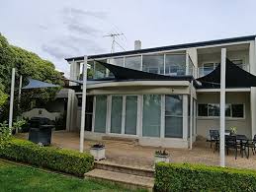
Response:
M110 170L115 172L122 172L138 176L154 177L154 169L143 166L134 166L128 164L120 164L114 161L95 161L94 167L97 169Z

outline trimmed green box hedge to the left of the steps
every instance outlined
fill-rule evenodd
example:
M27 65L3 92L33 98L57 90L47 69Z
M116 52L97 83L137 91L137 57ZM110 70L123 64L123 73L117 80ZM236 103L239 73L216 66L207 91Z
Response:
M94 159L87 153L40 147L30 141L11 139L0 149L0 158L83 176L93 168Z

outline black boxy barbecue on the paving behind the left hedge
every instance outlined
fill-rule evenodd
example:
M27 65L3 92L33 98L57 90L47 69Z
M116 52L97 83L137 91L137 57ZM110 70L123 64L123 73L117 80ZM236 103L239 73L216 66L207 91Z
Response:
M54 128L47 118L34 117L30 120L29 140L43 146L50 145L51 130Z

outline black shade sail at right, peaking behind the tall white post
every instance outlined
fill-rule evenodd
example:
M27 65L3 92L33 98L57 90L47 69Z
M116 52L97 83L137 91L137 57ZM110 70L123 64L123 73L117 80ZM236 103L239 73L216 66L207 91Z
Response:
M212 73L197 79L202 86L198 89L217 89L220 87L220 64ZM225 68L225 87L226 88L250 88L256 87L256 76L244 71L237 65L226 59Z

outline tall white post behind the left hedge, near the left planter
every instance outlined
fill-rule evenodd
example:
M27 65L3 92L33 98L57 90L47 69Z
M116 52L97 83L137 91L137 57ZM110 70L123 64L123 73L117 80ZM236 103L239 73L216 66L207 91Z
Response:
M80 128L80 153L83 153L83 151L84 151L84 127L85 127L85 109L86 109L86 83L87 83L87 56L84 56L83 94L82 94L81 128Z

